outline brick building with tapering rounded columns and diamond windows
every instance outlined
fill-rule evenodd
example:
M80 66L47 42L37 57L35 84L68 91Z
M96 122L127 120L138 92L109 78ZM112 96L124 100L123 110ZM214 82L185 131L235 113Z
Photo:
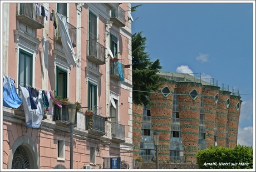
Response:
M189 74L160 72L163 85L151 105L133 105L134 159L154 161L159 132L159 163L196 163L209 146L237 145L242 104L238 90Z

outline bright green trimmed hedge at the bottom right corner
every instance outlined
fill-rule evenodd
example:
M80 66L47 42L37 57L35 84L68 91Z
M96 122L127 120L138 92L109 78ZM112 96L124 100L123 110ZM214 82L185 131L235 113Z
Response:
M253 148L211 146L196 153L199 169L253 169Z

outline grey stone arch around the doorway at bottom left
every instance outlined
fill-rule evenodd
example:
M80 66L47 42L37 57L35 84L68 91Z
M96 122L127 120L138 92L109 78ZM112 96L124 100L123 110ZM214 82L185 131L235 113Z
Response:
M12 145L8 159L8 169L12 168L13 155L19 146L22 146L27 153L30 169L38 169L39 158L37 147L27 135L20 136Z

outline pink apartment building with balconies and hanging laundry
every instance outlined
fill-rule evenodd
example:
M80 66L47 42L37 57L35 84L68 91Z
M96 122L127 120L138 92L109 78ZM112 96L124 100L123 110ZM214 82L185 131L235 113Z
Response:
M130 3L3 3L3 83L14 85L3 89L3 169L68 169L71 149L73 169L111 168L108 158L132 168L130 12ZM65 103L81 105L73 148Z

